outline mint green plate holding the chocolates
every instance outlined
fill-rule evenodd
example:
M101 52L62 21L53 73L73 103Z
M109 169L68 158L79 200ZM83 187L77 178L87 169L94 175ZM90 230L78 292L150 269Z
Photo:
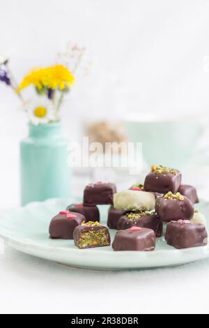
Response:
M52 216L77 200L34 202L7 214L0 220L0 236L18 251L73 267L100 270L173 267L209 257L209 246L176 250L167 246L164 237L157 239L153 252L114 252L109 247L80 250L72 240L49 239ZM209 219L209 202L196 206ZM108 207L100 207L101 222L107 222ZM115 230L110 230L111 240Z

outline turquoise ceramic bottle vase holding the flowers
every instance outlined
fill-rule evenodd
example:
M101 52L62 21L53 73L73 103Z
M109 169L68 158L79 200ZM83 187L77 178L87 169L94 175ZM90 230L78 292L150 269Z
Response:
M70 197L68 140L61 124L29 124L29 137L20 144L21 202Z

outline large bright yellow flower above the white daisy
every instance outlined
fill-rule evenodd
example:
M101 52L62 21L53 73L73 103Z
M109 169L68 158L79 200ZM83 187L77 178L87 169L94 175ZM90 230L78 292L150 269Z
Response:
M22 90L33 84L38 90L47 89L69 89L74 84L75 77L70 70L63 65L56 65L47 68L32 70L20 83L19 89Z

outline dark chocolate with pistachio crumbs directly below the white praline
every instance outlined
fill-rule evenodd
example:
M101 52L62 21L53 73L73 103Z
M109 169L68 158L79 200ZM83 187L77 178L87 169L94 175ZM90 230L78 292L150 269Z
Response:
M127 213L128 215L128 213ZM142 215L139 218L127 218L127 216L121 216L118 221L118 230L128 229L131 227L141 227L152 229L155 232L156 237L162 236L162 221L156 213Z

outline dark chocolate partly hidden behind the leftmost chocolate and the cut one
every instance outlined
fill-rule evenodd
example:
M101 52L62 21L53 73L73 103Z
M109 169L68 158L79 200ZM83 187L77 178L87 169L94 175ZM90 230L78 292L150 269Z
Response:
M84 204L71 204L67 207L68 211L83 214L88 221L100 222L100 211L97 206L86 206Z

